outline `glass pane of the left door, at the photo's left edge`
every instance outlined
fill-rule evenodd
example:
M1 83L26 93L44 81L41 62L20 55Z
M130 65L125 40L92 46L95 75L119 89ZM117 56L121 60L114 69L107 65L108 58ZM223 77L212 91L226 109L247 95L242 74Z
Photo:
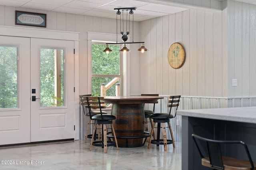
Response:
M0 46L0 108L18 107L18 47Z

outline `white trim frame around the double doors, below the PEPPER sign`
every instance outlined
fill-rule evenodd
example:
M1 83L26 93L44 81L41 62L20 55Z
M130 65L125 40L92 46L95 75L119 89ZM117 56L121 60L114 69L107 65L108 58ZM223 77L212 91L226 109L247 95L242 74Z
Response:
M79 33L71 31L57 31L49 29L36 29L27 27L10 27L0 26L0 35L12 37L28 37L42 39L59 39L74 41L74 49L77 51L74 54L74 125L75 125L75 140L79 140ZM76 97L77 96L77 97Z

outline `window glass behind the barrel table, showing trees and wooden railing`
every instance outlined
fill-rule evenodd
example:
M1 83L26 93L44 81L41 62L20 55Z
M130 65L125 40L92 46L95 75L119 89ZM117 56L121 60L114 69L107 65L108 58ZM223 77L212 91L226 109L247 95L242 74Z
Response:
M106 54L106 44L92 43L92 96L116 96L122 72L120 47L109 45L112 52Z

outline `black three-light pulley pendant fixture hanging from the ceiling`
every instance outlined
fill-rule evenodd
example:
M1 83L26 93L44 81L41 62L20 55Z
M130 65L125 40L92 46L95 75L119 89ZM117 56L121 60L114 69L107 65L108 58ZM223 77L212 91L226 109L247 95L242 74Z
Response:
M111 52L112 50L108 47L109 44L124 44L123 48L120 51L123 51L124 53L126 51L130 51L126 44L134 44L134 43L141 43L142 46L138 49L138 51L141 51L144 53L144 51L148 51L148 49L145 48L144 42L134 42L133 41L133 10L136 10L136 8L114 8L114 10L118 10L116 12L116 43L106 43L106 49L104 49L103 52L106 52L107 54ZM122 11L122 12L121 12ZM124 13L126 12L126 19L124 19ZM118 22L118 16L120 16L120 34L122 35L122 41L124 43L118 43L117 41L117 22ZM130 17L132 16L132 42L126 42L128 40L128 35L130 34ZM124 20L126 20L126 33L124 33ZM122 29L123 28L123 29Z

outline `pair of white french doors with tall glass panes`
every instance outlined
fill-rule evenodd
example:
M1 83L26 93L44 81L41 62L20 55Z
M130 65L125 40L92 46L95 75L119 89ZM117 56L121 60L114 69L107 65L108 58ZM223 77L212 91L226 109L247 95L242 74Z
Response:
M74 41L0 36L0 145L74 138Z

